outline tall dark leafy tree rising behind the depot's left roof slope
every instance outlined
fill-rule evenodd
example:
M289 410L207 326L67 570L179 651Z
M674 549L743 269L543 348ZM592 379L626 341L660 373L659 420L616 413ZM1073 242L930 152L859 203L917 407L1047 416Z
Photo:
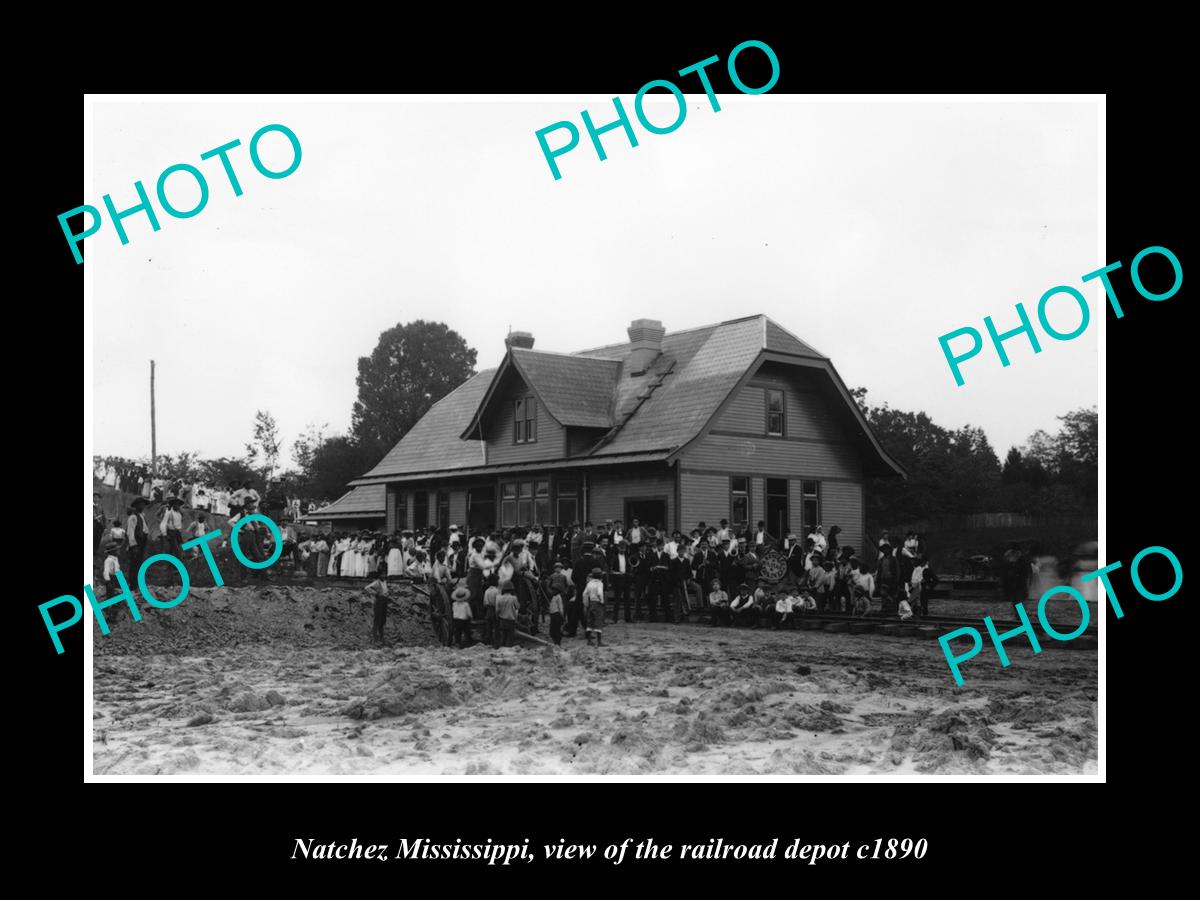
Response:
M359 358L353 438L377 462L431 406L474 373L475 350L443 323L418 319L388 329L371 355Z

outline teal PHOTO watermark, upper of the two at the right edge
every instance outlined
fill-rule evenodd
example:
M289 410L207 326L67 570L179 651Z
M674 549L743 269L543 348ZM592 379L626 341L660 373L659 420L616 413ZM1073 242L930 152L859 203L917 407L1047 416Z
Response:
M1171 264L1171 269L1174 270L1174 283L1170 288L1162 293L1150 290L1141 280L1141 264L1148 256L1164 257ZM1112 282L1109 280L1109 272L1116 271L1120 268L1121 262L1117 260L1116 263L1109 263L1103 269L1097 269L1094 272L1088 272L1081 277L1081 281L1085 284L1094 278L1100 280L1100 283L1104 284L1104 292L1108 295L1109 305L1112 307L1112 312L1118 319L1124 318L1124 310L1121 308L1121 301L1117 300L1117 292L1112 287ZM1183 266L1180 265L1178 257L1176 257L1166 247L1146 247L1138 256L1135 256L1133 262L1129 264L1129 277L1138 293L1147 300L1169 300L1180 292L1181 287L1183 287ZM1054 328L1046 314L1046 310L1050 307L1051 301L1055 301L1058 305L1066 305L1067 307L1072 304L1078 306L1079 324L1067 331L1060 331ZM1026 338L1028 338L1033 352L1042 353L1042 343L1038 341L1037 330L1033 328L1033 323L1030 319L1030 313L1026 311L1025 305L1016 304L1015 308L1016 318L1020 324L1008 331L997 331L996 323L992 320L991 316L985 316L983 319L984 330L988 332L991 346L996 350L1000 365L1006 368L1012 365L1012 360L1008 359L1008 352L1004 349L1004 341L1018 337L1019 335L1025 335ZM1087 330L1087 326L1092 320L1092 313L1087 306L1087 299L1079 290L1067 284L1058 284L1057 287L1050 288L1042 294L1042 298L1038 300L1037 319L1038 324L1042 325L1042 330L1050 338L1055 341L1074 341ZM964 337L968 338L970 344L959 340ZM950 353L950 341L959 341L954 353ZM983 350L983 335L979 334L978 329L967 325L955 329L954 331L948 331L937 338L937 343L941 346L942 354L946 356L946 361L950 366L950 374L954 376L954 383L961 388L965 384L962 378L962 364L968 359L978 356Z

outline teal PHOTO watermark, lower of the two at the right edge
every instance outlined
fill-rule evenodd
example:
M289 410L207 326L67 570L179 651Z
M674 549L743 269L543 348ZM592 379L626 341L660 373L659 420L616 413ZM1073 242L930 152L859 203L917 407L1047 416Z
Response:
M1141 580L1140 566L1142 560L1148 556L1162 556L1171 564L1171 570L1175 576L1175 583L1164 592L1154 593L1147 590L1145 583ZM1121 568L1120 560L1116 563L1110 563L1103 569L1097 569L1094 572L1088 572L1082 577L1082 581L1099 581L1104 586L1104 594L1109 599L1109 604L1112 606L1112 612L1118 619L1124 618L1124 610L1121 608L1121 602L1117 600L1117 593L1112 588L1112 582L1109 580L1111 572L1115 572ZM1134 589L1141 594L1147 600L1162 601L1170 600L1177 593L1180 588L1183 587L1183 565L1180 563L1180 558L1175 556L1166 547L1146 547L1138 556L1133 558L1129 564L1129 580L1133 582ZM1069 596L1075 604L1079 605L1081 616L1079 625L1075 626L1074 631L1058 631L1050 624L1046 618L1046 605L1056 596L1066 595ZM1021 620L1018 628L1010 629L1004 634L996 631L996 623L992 622L991 616L983 617L984 629L988 631L988 637L991 638L991 644L996 649L996 658L1000 660L1002 668L1008 668L1012 665L1012 660L1008 659L1008 653L1004 650L1004 642L1025 635L1026 640L1030 642L1030 647L1033 648L1033 653L1042 653L1042 643L1038 641L1037 631L1033 629L1033 623L1030 622L1030 614L1025 610L1025 604L1015 604L1016 618ZM1042 598L1038 600L1038 624L1042 626L1043 634L1054 641L1074 641L1076 637L1082 635L1092 619L1091 608L1087 605L1087 600L1084 598L1079 590L1067 584L1060 584L1046 590ZM960 654L950 653L950 641L958 640L960 637L970 638L971 649ZM954 631L942 635L937 638L937 643L942 647L942 653L946 655L946 661L950 666L950 674L954 676L954 683L962 685L962 672L960 671L960 665L966 662L968 659L973 659L979 655L983 650L983 635L979 634L979 629L966 626L959 628Z

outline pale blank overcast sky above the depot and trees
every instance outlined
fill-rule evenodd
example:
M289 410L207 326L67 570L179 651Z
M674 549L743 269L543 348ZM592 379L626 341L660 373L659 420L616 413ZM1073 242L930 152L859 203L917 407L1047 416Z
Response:
M95 304L98 454L150 452L149 360L157 361L161 452L242 451L256 409L284 445L307 424L347 431L356 361L379 334L445 322L499 362L504 335L571 352L624 341L635 318L668 331L766 313L830 356L871 401L924 409L947 427L982 426L1003 457L1056 415L1097 402L1100 288L1097 109L1092 103L814 103L689 97L671 134L637 125L587 133L556 181L534 132L611 98L539 102L121 102L94 107L94 184L85 202L137 203L187 162L208 176L192 218L161 209L86 240ZM632 115L632 98L623 97ZM676 106L648 103L666 124ZM247 145L290 127L302 162L269 180ZM199 155L234 138L245 193ZM552 145L565 139L559 132ZM263 158L290 158L280 134ZM173 175L168 197L197 197ZM193 182L194 184L194 182ZM157 206L157 202L156 206ZM1056 284L1082 289L1093 322L1070 342L986 348L959 388L938 335L995 317L1036 316ZM1060 302L1062 302L1060 300ZM1062 302L1051 322L1078 324Z

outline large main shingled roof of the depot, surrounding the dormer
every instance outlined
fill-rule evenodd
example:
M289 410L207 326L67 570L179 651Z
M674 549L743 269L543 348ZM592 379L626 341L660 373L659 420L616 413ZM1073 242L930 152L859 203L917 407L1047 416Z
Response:
M608 430L589 451L570 460L600 463L610 457L677 455L704 432L751 368L776 355L824 370L833 396L846 407L844 415L853 420L864 448L874 450L882 463L876 468L904 474L875 439L829 359L766 316L750 316L665 335L650 371L636 378L628 371L628 342L575 354L512 348L500 368L480 372L443 398L378 466L352 484L416 473L436 475L469 468L485 474L505 468L485 466L479 443L460 436L478 436L487 397L508 365L522 374L559 422ZM604 416L602 400L607 400ZM581 409L571 408L572 403Z

